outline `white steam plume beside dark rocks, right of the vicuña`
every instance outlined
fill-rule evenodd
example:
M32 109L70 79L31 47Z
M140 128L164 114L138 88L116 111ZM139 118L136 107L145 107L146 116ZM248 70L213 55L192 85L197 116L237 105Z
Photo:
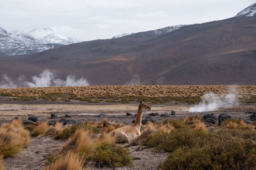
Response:
M216 96L214 93L207 93L204 95L202 101L196 106L189 108L189 112L203 112L214 111L219 108L230 108L237 104L236 94L223 94Z

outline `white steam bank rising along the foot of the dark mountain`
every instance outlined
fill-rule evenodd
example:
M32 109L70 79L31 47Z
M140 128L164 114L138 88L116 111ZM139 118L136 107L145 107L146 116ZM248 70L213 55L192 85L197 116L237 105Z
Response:
M56 79L55 74L49 70L43 71L39 76L33 76L32 81L24 81L24 76L20 76L16 83L12 78L3 75L0 81L0 88L15 87L52 87L52 86L87 86L88 81L85 78L76 79L74 75L68 75L66 80Z

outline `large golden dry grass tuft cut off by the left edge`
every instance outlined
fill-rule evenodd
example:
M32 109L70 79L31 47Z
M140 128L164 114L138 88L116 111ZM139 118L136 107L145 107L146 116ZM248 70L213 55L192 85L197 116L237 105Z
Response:
M0 127L0 153L4 157L15 156L29 144L29 132L21 124L21 120L13 120L11 124Z

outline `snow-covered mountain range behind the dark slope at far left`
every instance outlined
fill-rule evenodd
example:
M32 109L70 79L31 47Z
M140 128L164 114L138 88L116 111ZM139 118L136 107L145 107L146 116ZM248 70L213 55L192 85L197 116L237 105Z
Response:
M38 30L41 30L41 34L36 34ZM7 32L0 27L0 57L42 52L77 42L79 42L77 39L61 36L52 29Z

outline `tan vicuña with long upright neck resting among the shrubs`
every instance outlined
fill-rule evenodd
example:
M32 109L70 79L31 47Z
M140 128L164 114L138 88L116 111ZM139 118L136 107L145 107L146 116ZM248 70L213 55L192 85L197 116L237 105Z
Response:
M133 125L125 125L124 127L115 129L110 133L110 135L115 138L115 142L126 143L140 136L141 117L142 117L143 111L148 111L148 110L151 110L150 106L140 101L135 123Z

